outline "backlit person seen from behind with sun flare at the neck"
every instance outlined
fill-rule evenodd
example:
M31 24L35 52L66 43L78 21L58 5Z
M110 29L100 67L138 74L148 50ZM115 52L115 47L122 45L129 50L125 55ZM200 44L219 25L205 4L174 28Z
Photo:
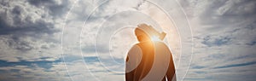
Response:
M126 81L176 81L172 53L165 43L166 36L152 26L138 25L135 34L139 43L133 45L125 62ZM160 40L153 40L157 37Z

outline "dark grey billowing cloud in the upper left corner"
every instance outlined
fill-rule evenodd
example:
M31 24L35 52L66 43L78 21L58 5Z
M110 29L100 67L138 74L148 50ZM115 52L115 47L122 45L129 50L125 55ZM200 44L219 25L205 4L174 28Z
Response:
M42 33L52 34L57 32L54 29L53 23L39 18L43 14L37 14L37 10L31 13L29 10L29 8L20 5L14 5L14 8L2 9L2 12L0 12L2 29L0 34L32 36L34 34L31 33L37 33L39 35Z

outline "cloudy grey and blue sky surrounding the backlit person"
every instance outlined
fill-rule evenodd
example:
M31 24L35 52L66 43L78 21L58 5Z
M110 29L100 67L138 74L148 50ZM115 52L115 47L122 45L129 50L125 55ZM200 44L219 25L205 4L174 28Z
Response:
M178 81L254 81L254 0L0 0L1 81L124 81L146 23Z

